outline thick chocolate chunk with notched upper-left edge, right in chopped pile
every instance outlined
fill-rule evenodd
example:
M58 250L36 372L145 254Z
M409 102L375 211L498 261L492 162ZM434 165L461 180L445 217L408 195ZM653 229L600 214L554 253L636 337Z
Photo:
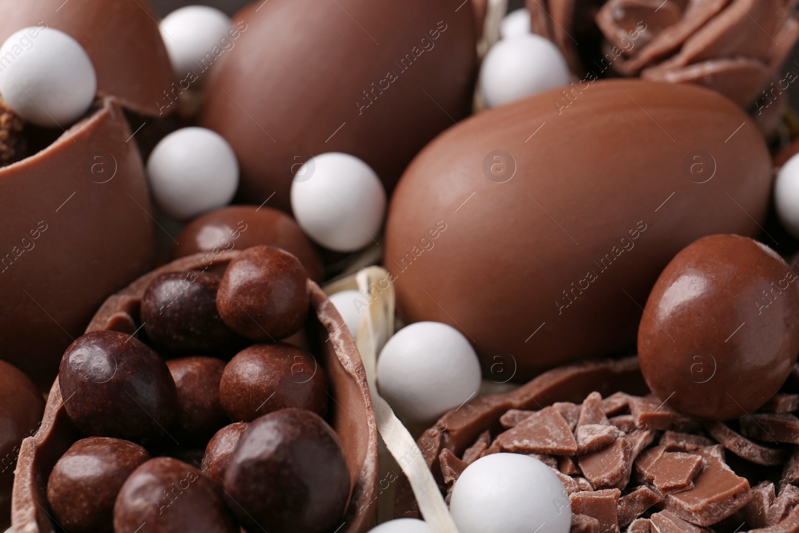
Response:
M694 478L694 488L666 496L666 510L699 526L710 526L744 507L752 498L749 482L714 456Z

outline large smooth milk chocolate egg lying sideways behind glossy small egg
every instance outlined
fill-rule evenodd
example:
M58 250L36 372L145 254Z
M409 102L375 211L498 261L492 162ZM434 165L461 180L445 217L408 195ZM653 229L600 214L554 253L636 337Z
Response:
M632 348L674 254L755 234L769 201L761 134L725 97L638 80L570 90L448 129L389 209L401 316L459 328L496 380Z

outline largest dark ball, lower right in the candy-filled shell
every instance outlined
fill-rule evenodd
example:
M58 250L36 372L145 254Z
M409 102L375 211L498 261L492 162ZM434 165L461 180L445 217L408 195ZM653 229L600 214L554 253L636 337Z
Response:
M349 489L339 437L301 409L282 409L249 424L225 472L225 497L248 531L332 531L344 515Z

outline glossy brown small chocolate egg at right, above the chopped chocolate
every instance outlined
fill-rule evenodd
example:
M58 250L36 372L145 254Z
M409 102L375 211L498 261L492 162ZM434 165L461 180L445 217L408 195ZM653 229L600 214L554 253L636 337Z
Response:
M703 237L666 266L638 328L641 371L678 411L712 420L753 412L799 352L799 280L765 245Z

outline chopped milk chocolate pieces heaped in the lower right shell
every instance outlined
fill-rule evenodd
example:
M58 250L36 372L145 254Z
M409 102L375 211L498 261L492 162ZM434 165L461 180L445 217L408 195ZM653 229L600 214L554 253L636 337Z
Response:
M550 466L571 503L571 531L799 531L799 365L783 392L740 420L702 422L654 396L592 392L582 404L510 409L439 462L449 499L476 459L526 454Z

